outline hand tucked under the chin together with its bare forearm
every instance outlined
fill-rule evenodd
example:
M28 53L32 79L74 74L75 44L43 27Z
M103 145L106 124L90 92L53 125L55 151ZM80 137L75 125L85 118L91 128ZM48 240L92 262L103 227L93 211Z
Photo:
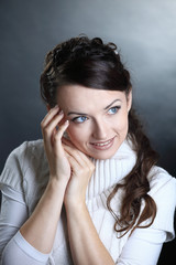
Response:
M74 264L114 265L112 257L99 239L85 200L95 165L85 153L77 150L69 140L63 138L63 142L72 168L64 203Z

